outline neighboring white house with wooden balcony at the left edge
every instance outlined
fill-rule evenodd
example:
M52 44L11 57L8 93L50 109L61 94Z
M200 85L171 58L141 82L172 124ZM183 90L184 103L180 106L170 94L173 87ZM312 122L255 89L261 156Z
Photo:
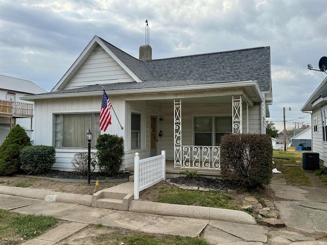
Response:
M45 92L31 81L0 75L0 144L17 124L25 129L33 141L34 103L21 100L20 97Z

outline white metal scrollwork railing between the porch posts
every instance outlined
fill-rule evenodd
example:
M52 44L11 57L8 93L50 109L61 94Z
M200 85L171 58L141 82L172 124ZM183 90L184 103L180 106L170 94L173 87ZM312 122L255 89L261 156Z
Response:
M183 145L181 168L220 170L220 146Z

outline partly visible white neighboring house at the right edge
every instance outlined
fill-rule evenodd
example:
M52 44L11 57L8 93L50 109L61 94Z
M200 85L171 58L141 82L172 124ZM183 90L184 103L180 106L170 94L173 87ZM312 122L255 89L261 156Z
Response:
M313 92L301 111L311 112L312 151L319 153L319 159L327 167L327 78Z

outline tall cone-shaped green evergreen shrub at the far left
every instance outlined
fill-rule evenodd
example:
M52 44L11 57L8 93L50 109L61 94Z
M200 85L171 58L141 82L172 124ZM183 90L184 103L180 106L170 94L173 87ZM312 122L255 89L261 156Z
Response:
M0 175L11 175L20 169L20 151L30 146L30 137L18 124L13 127L0 145Z

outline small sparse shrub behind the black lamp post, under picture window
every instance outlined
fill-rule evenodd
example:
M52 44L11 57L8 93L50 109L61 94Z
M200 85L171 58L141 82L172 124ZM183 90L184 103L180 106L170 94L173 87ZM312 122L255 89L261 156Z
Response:
M97 165L97 156L95 153L91 152L91 173L94 171ZM87 162L88 162L88 153L87 152L79 152L74 155L74 158L72 160L72 165L74 168L74 171L79 172L81 175L86 176L87 175Z

